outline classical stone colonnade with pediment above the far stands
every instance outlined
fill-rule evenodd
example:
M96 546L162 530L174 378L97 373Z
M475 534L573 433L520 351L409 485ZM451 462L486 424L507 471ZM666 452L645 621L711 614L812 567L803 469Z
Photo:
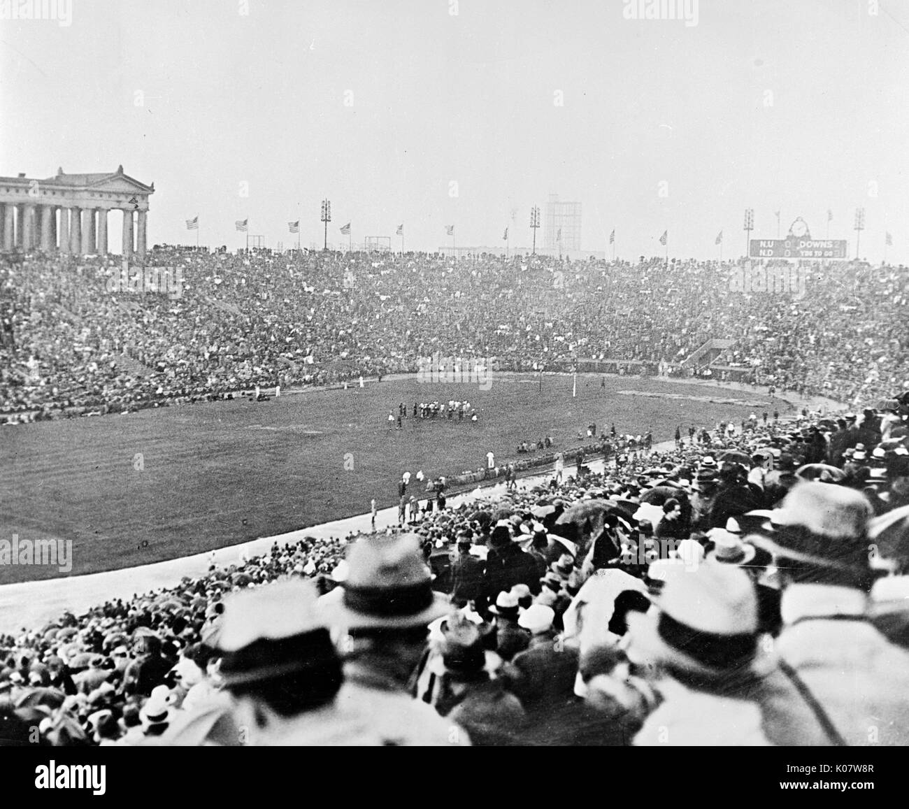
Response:
M0 177L0 247L77 255L106 254L107 214L123 214L123 255L145 255L148 197L145 185L123 173L65 175L35 180Z

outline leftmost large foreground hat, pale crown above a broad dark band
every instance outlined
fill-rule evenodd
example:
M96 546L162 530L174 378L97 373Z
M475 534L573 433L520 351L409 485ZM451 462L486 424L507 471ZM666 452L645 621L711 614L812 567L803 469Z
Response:
M315 584L293 578L225 598L216 638L227 688L285 674L340 671Z

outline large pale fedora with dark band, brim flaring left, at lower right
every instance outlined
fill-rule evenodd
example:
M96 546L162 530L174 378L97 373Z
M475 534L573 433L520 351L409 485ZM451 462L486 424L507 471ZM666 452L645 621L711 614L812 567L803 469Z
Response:
M629 613L628 656L718 676L751 664L757 651L757 596L748 574L704 564L674 575L655 598L656 614Z

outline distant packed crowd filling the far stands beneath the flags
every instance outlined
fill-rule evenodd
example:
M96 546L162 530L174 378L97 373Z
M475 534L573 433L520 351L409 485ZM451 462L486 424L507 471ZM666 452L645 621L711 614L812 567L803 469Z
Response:
M500 370L567 370L587 357L677 373L712 338L732 341L714 364L847 404L909 376L903 267L815 267L804 296L784 297L731 293L731 265L694 260L158 247L149 265L184 280L177 292L137 293L110 284L115 256L78 261L0 259L6 423L413 373L440 353Z

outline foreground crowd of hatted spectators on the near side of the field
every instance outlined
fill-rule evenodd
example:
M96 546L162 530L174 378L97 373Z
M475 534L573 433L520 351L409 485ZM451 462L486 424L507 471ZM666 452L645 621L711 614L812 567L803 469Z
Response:
M909 385L0 637L5 744L907 744Z

